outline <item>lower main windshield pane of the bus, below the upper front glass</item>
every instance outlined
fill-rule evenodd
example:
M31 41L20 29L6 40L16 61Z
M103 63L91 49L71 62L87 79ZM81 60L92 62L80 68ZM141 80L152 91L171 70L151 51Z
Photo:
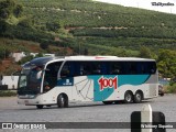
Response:
M19 95L37 95L41 91L43 68L36 66L31 69L23 69L19 78Z

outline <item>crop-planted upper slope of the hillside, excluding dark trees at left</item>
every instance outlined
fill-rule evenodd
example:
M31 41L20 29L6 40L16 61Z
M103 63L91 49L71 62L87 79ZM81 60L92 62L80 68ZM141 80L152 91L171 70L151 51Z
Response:
M18 1L24 6L23 14L33 19L36 29L48 30L48 23L59 23L65 32L75 36L76 43L88 47L103 44L139 50L141 45L146 45L173 50L176 43L175 14L91 0Z

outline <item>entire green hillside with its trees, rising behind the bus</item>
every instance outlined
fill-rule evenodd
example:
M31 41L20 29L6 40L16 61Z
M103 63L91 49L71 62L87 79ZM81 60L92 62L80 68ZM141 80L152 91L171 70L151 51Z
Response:
M37 42L46 51L55 45L72 54L153 57L165 69L169 65L160 55L176 51L175 14L92 0L0 1L12 7L1 4L1 37ZM160 69L175 76L175 68L168 70Z

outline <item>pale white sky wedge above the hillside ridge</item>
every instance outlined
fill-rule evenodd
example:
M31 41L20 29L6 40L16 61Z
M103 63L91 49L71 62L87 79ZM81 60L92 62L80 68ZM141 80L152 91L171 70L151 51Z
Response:
M124 7L142 8L147 10L155 10L160 12L167 12L176 14L176 0L95 0ZM152 6L152 2L172 3L174 6Z

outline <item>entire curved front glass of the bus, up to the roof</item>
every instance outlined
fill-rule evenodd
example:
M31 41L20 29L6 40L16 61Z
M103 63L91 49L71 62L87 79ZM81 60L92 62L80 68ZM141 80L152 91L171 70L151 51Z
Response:
M22 66L18 84L19 96L37 95L41 92L44 66L52 59L54 58L38 57L25 63Z

